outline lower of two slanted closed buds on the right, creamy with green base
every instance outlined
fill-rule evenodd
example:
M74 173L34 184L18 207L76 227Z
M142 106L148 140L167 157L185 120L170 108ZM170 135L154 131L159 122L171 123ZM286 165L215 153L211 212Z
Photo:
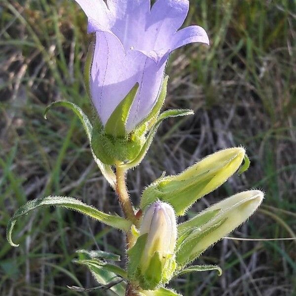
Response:
M257 210L262 200L263 193L259 190L240 192L209 207L206 211L219 209L220 212L202 226L194 227L196 218L189 220L187 229L189 228L190 233L177 250L178 266L182 267L196 259L207 248L246 221Z

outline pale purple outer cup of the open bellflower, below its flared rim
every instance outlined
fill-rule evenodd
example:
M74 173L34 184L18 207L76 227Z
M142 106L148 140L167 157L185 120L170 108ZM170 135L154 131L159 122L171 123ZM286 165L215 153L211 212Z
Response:
M165 63L156 64L142 52L125 53L111 32L97 32L91 68L93 105L103 124L136 82L139 90L127 120L128 132L144 119L154 106L162 82Z

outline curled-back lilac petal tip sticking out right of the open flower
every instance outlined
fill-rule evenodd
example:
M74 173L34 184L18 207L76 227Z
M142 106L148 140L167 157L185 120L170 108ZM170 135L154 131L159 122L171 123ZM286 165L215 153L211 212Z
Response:
M210 44L206 31L199 26L190 26L178 31L171 39L171 50L175 50L183 45L192 42L201 42Z

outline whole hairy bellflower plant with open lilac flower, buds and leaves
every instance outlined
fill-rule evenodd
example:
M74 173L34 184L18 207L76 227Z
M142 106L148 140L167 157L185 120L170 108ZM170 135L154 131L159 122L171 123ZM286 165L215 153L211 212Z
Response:
M133 206L125 182L128 169L145 157L158 126L168 117L191 110L161 112L170 53L188 43L209 44L198 26L180 30L188 12L187 0L76 0L88 17L93 34L85 62L85 88L95 112L91 121L75 104L54 102L52 107L74 111L85 129L102 174L116 191L124 217L107 214L67 196L47 196L29 201L12 216L7 239L19 218L42 206L78 211L126 234L127 266L120 257L101 250L77 251L78 264L92 272L100 286L118 296L180 296L166 285L189 272L222 270L216 265L190 265L225 235L246 221L259 207L263 193L249 190L234 194L177 223L201 197L212 192L235 172L242 174L250 161L245 149L227 148L198 161L174 176L161 176L148 185ZM89 289L69 287L76 292Z

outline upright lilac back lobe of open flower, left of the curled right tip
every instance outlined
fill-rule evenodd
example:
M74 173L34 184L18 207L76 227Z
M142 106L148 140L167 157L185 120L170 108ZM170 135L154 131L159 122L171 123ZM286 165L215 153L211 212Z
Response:
M184 23L188 13L188 0L157 0L151 8L146 26L146 50L169 49L173 34Z

